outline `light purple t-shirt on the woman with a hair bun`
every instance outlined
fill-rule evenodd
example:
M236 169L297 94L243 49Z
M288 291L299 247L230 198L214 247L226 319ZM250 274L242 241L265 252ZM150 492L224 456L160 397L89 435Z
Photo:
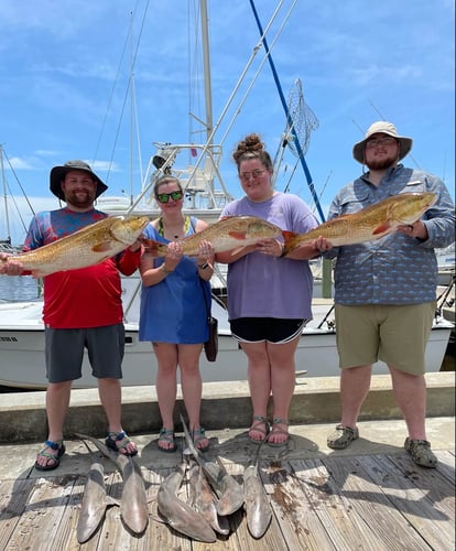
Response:
M296 234L318 226L300 197L281 192L263 203L253 203L248 197L234 201L224 208L224 216L257 216ZM311 320L312 283L307 260L250 252L228 264L229 318Z

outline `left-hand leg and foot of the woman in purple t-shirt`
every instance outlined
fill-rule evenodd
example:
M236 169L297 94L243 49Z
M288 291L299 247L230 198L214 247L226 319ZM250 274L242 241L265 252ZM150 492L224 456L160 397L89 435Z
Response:
M250 429L249 437L261 441L267 434L267 424L259 421L259 418L267 419L268 402L271 395L271 367L267 344L265 342L241 343L241 347L248 358L247 377L253 409L252 426L258 428Z

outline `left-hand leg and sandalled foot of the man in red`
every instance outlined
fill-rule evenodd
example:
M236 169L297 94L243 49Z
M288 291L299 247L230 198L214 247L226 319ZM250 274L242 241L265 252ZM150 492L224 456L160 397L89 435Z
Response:
M69 397L73 381L50 382L46 390L46 415L48 424L47 440L57 442L63 439L63 424L69 406ZM58 451L46 447L45 452L57 456ZM41 466L53 465L54 460L42 455L36 456L36 463Z

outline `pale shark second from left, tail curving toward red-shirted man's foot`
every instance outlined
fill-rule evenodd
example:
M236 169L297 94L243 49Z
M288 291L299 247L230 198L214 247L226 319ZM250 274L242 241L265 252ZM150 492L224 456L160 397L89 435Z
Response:
M99 440L75 433L80 440L91 442L106 457L120 468L123 478L120 516L124 525L134 533L142 533L149 522L148 499L141 469L131 457L109 450Z

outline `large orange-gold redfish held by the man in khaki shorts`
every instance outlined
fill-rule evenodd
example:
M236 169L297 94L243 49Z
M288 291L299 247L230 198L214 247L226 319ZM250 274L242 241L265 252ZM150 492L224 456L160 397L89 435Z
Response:
M435 193L431 192L401 193L369 205L358 213L346 214L325 222L306 234L283 231L284 252L291 252L319 236L325 237L334 247L380 239L395 231L398 226L416 222L435 203Z

